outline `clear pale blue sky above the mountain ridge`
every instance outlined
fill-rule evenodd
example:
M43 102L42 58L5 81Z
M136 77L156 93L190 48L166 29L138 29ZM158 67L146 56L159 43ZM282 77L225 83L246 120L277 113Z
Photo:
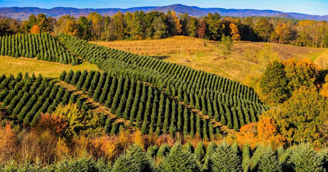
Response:
M328 0L0 0L0 7L131 8L183 4L201 8L256 9L328 15Z

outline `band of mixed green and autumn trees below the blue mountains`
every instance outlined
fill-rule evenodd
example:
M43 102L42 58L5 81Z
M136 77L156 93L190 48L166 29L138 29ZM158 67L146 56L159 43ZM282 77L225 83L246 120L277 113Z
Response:
M218 13L193 17L188 13L168 11L117 12L102 16L97 12L78 19L66 15L58 20L45 14L30 15L27 21L0 20L0 35L49 31L66 33L86 40L160 39L185 35L220 40L229 35L233 40L276 42L307 47L328 47L326 21L297 20L277 17L222 17Z

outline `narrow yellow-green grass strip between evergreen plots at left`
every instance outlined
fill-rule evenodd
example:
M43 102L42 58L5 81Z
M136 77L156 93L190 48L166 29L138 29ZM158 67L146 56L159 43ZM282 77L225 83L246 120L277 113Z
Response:
M22 72L23 74L25 72L28 72L29 74L34 72L35 75L41 73L44 77L57 78L63 70L98 70L96 65L87 62L77 66L71 66L25 57L16 59L8 56L0 56L0 64L0 73L4 73L6 76L9 76L10 74L15 76L18 72Z

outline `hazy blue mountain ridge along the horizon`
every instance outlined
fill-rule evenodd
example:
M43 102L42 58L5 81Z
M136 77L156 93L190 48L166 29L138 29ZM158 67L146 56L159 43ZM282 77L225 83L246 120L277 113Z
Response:
M52 9L40 9L36 7L2 7L0 8L0 15L7 16L10 18L15 18L19 20L26 20L30 14L37 15L38 13L45 13L47 16L54 18L59 18L63 15L71 15L74 17L86 16L89 13L95 11L102 15L113 15L117 11L123 13L129 11L134 12L136 10L143 10L146 12L149 11L162 11L167 12L168 10L173 10L177 13L185 13L192 16L204 16L207 13L218 12L223 16L234 16L234 17L246 17L246 16L272 16L272 17L282 17L282 18L295 18L295 19L310 19L310 20L325 20L328 21L328 15L319 16L319 15L310 15L310 14L301 14L295 12L281 12L274 10L252 10L252 9L223 9L223 8L199 8L196 6L186 6L181 4L174 4L163 7L134 7L128 9L119 9L119 8L107 8L107 9L77 9L77 8L66 8L66 7L56 7Z

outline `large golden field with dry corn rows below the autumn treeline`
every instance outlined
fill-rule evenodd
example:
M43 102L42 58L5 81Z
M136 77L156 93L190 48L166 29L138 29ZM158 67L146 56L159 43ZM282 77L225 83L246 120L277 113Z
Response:
M219 42L175 36L161 40L92 42L102 46L150 55L172 63L190 66L244 83L248 75L260 74L269 61L291 57L309 58L326 68L328 50L263 42L234 42L232 53L222 58ZM182 56L180 54L182 48ZM263 57L266 58L263 58Z

